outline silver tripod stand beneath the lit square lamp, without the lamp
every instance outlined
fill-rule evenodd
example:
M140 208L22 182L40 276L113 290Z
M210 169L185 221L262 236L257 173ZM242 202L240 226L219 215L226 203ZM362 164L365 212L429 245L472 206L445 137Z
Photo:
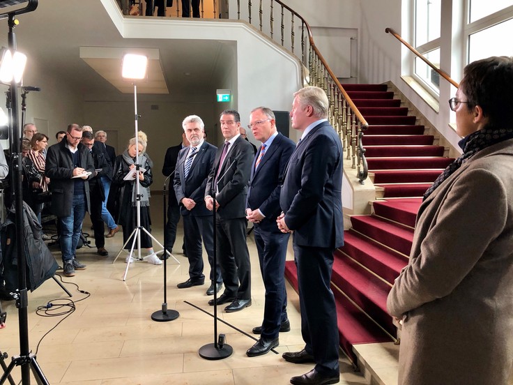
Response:
M150 232L148 232L147 229L145 229L143 226L141 226L141 183L139 181L139 170L141 169L141 165L139 164L139 130L137 122L139 120L139 114L137 114L137 84L134 83L134 110L135 110L135 149L136 149L136 155L135 155L135 209L137 213L137 226L132 231L132 234L128 237L128 240L123 244L121 247L121 250L119 250L118 255L116 255L116 258L114 258L114 262L116 262L116 259L118 259L119 255L121 255L121 252L125 250L125 246L127 246L128 242L130 242L130 239L132 239L132 246L130 248L130 252L128 253L128 262L126 264L125 274L123 275L123 281L126 280L126 276L128 274L128 268L130 267L130 258L134 258L137 261L142 261L143 258L141 257L141 232L145 232L146 235L148 235L155 243L160 246L162 250L155 252L156 254L159 254L160 252L167 252L167 254L172 257L177 264L180 264L178 262L178 259L174 257L169 251L164 250L164 246L155 239L153 235L151 235ZM135 245L137 243L137 258L134 256L135 252Z

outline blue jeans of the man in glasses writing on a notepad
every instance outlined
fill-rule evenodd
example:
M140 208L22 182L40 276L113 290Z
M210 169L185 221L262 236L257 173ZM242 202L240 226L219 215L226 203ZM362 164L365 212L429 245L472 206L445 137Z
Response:
M63 262L71 261L75 257L80 232L82 231L82 222L86 216L86 197L85 195L73 195L71 204L71 215L59 217L61 223L61 252Z

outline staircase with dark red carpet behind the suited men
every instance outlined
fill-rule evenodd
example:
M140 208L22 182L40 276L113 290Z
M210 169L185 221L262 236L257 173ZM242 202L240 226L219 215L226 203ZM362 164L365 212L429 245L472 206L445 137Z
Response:
M372 215L351 216L333 262L340 346L355 363L353 345L395 341L386 298L408 262L422 195L453 159L433 135L424 135L386 84L343 86L369 123L363 144L377 199ZM297 290L293 261L286 262L285 275Z

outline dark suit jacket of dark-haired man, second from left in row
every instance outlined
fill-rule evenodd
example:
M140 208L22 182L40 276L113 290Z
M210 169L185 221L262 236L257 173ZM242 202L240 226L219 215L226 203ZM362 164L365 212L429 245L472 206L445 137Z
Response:
M217 149L214 167L208 175L205 188L205 196L214 196L214 179L219 167L222 153L222 146ZM247 185L251 176L251 164L253 160L253 148L250 142L238 137L233 142L232 149L224 159L220 171L220 179L217 181L219 193L215 199L219 202L217 214L223 219L245 218L245 207L247 199Z

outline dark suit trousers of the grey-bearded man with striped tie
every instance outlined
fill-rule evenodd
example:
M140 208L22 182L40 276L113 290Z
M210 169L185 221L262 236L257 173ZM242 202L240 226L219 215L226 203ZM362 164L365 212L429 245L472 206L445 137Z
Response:
M219 263L214 268L214 223L212 216L183 216L183 232L185 234L185 249L189 259L189 276L191 279L199 280L205 278L203 273L203 248L201 239L208 255L210 264L210 281L221 283L221 269ZM214 278L215 272L215 278Z

